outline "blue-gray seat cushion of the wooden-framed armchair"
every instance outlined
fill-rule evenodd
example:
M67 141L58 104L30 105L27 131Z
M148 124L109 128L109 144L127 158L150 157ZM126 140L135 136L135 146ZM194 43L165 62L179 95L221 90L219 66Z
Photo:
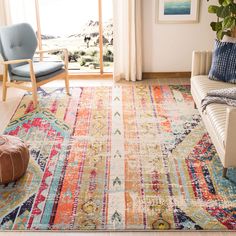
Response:
M34 62L34 73L35 77L45 76L61 70L64 66L63 62ZM12 69L11 73L13 75L21 77L30 77L30 66L29 64L17 66Z

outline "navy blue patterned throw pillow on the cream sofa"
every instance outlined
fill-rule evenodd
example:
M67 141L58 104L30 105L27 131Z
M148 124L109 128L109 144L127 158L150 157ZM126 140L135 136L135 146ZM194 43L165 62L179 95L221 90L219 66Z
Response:
M215 41L209 79L236 83L236 43Z

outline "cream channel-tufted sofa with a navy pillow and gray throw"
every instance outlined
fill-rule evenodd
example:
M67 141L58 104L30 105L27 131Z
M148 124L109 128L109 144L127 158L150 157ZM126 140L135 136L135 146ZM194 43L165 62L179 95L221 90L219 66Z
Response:
M210 104L202 113L201 101L210 90L236 87L236 84L208 79L211 61L212 52L193 52L191 93L223 164L223 176L226 177L227 169L236 167L236 108Z

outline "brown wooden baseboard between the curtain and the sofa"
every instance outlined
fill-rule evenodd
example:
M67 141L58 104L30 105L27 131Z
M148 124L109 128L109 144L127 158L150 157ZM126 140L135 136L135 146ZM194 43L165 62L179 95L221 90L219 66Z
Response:
M190 71L181 72L143 72L143 79L181 79L190 78Z

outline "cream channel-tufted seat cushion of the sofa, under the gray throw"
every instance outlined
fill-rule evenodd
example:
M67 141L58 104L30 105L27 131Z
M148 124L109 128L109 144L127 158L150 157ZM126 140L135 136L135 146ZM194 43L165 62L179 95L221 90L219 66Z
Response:
M201 104L203 98L206 97L207 92L215 89L232 88L236 84L230 84L220 81L209 80L207 76L199 75L191 78L191 85L194 94L196 94L197 103ZM218 138L221 143L225 143L225 126L226 126L226 109L225 104L210 104L206 108L206 114L211 124L215 128Z

